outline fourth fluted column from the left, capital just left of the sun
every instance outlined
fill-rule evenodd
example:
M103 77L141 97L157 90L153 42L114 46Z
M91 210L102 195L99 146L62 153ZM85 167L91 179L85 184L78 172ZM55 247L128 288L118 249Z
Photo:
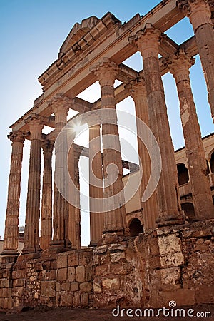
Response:
M61 94L57 94L52 101L48 104L51 106L55 114L55 131L56 137L61 132L67 123L68 110L72 106L73 101ZM61 142L61 138L58 140L58 144L55 144L55 173L61 173L61 182L64 184L64 190L68 192L66 181L67 178L64 173L61 172L61 162L68 161L68 146L66 142ZM63 195L58 191L54 184L54 236L50 245L57 251L71 248L71 241L68 238L68 202L63 198Z

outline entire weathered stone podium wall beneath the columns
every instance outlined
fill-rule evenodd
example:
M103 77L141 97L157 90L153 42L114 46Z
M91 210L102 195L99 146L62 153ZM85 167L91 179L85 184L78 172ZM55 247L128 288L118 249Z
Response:
M214 220L158 228L96 248L1 263L0 308L214 303Z

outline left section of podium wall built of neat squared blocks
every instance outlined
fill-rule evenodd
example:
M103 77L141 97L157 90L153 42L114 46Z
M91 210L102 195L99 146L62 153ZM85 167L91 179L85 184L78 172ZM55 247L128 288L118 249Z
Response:
M41 258L20 256L9 267L1 265L0 307L21 310L24 307L90 307L92 295L92 248L47 254ZM10 287L6 288L6 282Z

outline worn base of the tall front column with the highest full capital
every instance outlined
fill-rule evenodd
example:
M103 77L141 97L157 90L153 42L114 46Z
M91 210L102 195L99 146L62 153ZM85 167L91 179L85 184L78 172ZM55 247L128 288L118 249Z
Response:
M177 212L177 213L176 213ZM170 226L170 225L182 225L185 223L185 214L183 210L176 211L173 213L159 213L158 218L156 219L156 223L158 228L162 226Z

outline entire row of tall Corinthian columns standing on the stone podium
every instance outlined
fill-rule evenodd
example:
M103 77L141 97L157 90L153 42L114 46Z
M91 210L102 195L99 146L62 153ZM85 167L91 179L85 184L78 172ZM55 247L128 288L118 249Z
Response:
M200 58L205 71L208 84L208 95L211 110L213 111L213 25L210 20L209 1L177 1L178 7L185 10L190 16L193 24L195 38L198 44ZM212 28L211 28L212 26ZM146 202L142 204L145 228L154 228L158 226L183 223L183 212L180 208L180 199L178 193L177 168L175 165L173 143L170 137L170 128L168 123L167 109L161 71L158 61L158 46L161 40L161 32L154 29L151 24L146 24L145 28L135 36L130 38L131 44L136 46L143 57L144 78L138 78L136 81L128 84L126 89L131 91L133 101L136 106L136 116L141 118L153 131L162 156L161 178L156 188L156 192ZM206 41L207 40L207 41ZM206 56L205 53L206 52ZM193 191L193 203L195 215L198 219L213 218L213 202L210 193L208 176L206 175L206 162L203 145L201 141L200 127L195 112L195 103L190 88L189 68L193 64L193 59L180 50L173 57L166 60L168 70L173 73L178 88L180 100L180 116L183 125L183 134L186 145L186 156L188 159L188 168L190 171L190 181ZM103 58L101 63L91 68L101 85L101 108L111 108L115 111L116 120L116 102L114 98L113 83L116 80L118 66L108 58ZM57 95L53 101L49 102L55 113L56 136L67 123L68 109L71 108L73 101L63 95ZM49 245L56 250L71 248L71 230L73 220L70 220L70 212L73 208L68 205L61 193L54 186L54 220L52 235L51 225L51 153L53 143L46 143L44 151L44 185L41 213L41 238L39 240L39 207L40 207L40 170L41 170L41 131L43 128L43 119L41 116L32 115L26 122L31 133L31 154L29 165L29 185L26 205L26 227L24 238L23 253L39 253L41 248L47 248ZM101 136L100 136L101 130ZM111 146L106 141L108 135L113 136ZM13 136L13 138L12 138ZM103 145L103 155L101 155L101 137ZM16 254L17 233L19 221L19 195L21 179L21 160L24 136L22 133L13 133L10 137L13 141L11 156L11 173L9 177L9 194L6 212L6 228L4 238L3 254ZM94 138L98 138L93 146ZM61 147L63 146L63 148ZM115 148L116 147L116 148ZM96 153L97 151L100 151ZM96 195L98 198L108 198L111 195L123 190L123 168L121 161L121 149L118 136L117 120L115 123L103 123L100 126L90 128L89 156L96 153L96 157L91 161L93 174L103 179L103 188L99 190L93 186L91 177L90 196ZM143 180L141 182L141 194L146 188L150 175L150 160L143 143L138 140L139 158L143 163ZM68 149L65 144L58 144L56 153L56 168L61 169L59 159L66 161ZM92 153L92 154L91 154ZM74 156L71 154L70 170L73 175ZM59 157L61 156L61 157ZM90 156L91 158L92 156ZM114 172L108 173L108 165L116 165L117 179L112 185L106 183L108 175L115 175ZM61 175L62 182L66 178ZM66 183L65 183L66 184ZM66 185L64 186L66 190ZM123 200L121 200L123 204ZM79 213L76 213L79 217ZM74 215L74 217L76 217ZM79 220L78 220L79 226ZM91 245L95 245L101 238L109 235L128 234L126 226L125 206L121 205L115 210L104 211L101 214L91 212Z

